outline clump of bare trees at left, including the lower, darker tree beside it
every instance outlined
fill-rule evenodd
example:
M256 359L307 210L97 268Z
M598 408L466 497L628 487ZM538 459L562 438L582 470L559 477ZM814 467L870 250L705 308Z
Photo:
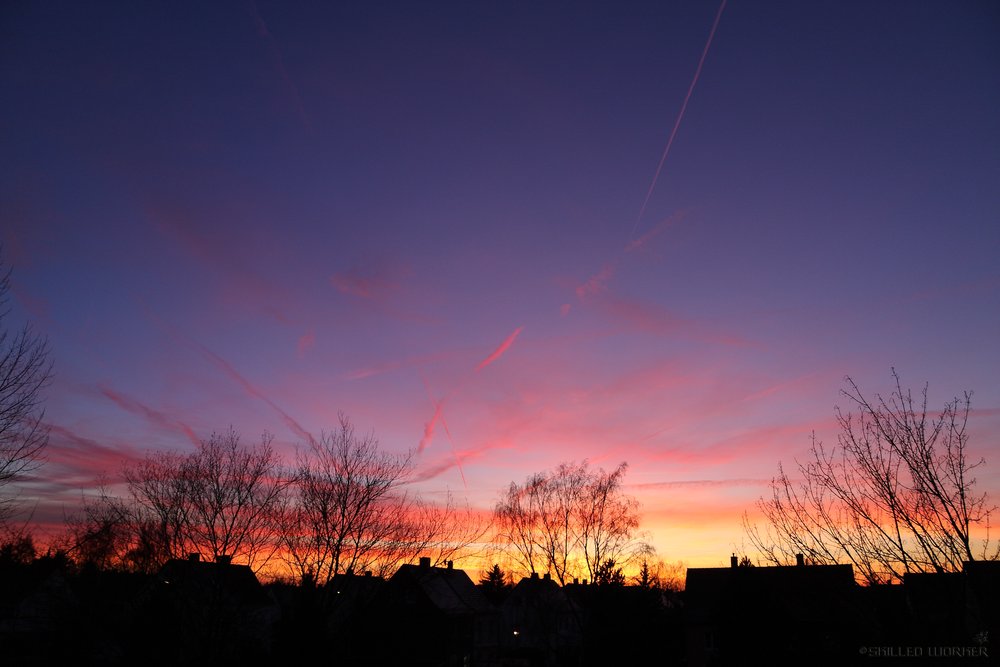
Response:
M70 520L73 553L84 562L150 572L198 553L257 571L280 546L287 480L268 434L246 446L230 427L187 454L151 452L124 476L127 498L102 490Z

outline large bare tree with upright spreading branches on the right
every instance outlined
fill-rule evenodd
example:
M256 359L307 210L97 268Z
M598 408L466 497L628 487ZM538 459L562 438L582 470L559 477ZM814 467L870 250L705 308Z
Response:
M801 553L815 563L850 562L862 580L880 583L1000 556L988 538L977 545L973 537L988 528L992 508L974 488L985 461L967 453L971 393L928 415L927 387L915 401L892 374L887 399L865 397L847 378L851 410L837 408L837 445L814 437L794 478L779 465L771 497L758 502L768 525L744 517L765 560L787 563Z

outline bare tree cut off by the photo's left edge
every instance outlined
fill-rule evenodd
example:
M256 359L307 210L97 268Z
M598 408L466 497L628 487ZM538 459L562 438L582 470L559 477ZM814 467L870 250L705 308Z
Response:
M52 377L46 340L30 324L7 329L9 293L10 269L0 260L0 489L41 463L49 440L42 390ZM12 499L0 500L0 521L12 511Z

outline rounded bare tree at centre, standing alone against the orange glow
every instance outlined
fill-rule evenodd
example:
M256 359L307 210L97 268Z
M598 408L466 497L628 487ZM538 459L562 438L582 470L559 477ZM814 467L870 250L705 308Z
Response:
M521 569L543 569L562 584L574 574L593 580L607 561L632 564L652 550L637 536L638 502L622 491L627 469L562 463L524 485L511 483L494 508L497 541Z

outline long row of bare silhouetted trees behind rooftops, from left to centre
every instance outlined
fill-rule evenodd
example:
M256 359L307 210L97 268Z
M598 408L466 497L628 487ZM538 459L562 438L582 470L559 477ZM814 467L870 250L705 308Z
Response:
M449 496L424 500L410 483L411 454L380 448L341 415L335 430L302 445L291 464L272 439L234 429L192 452L158 451L124 465L124 482L86 497L52 545L79 565L152 573L198 554L247 564L269 579L325 584L339 574L387 577L401 564L478 557L520 574L624 581L652 556L639 534L627 470L564 463L511 483L492 512ZM34 549L8 532L10 555ZM50 550L50 553L52 550Z

